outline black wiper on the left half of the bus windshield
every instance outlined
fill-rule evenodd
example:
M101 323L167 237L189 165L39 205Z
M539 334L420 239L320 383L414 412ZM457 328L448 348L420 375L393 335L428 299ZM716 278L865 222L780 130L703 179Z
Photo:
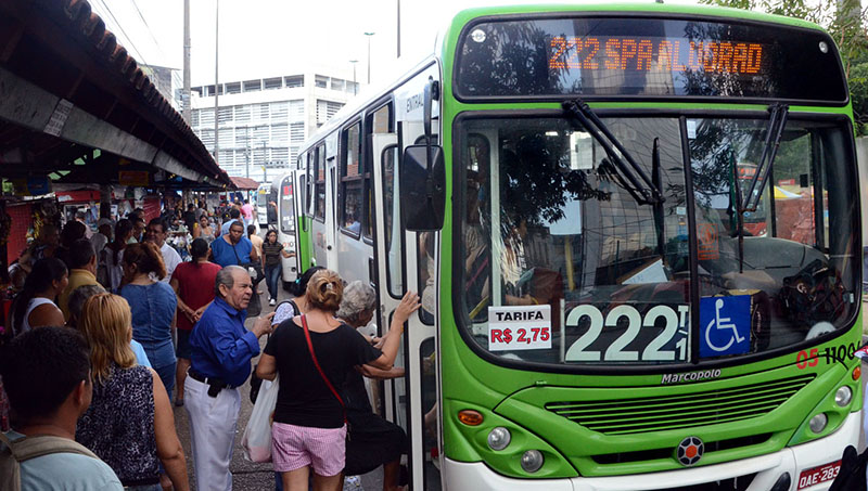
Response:
M654 205L663 203L663 194L660 188L654 185L644 170L636 163L636 159L627 152L614 134L607 128L603 121L590 111L590 107L580 99L564 101L561 104L571 116L578 119L584 129L600 143L607 156L622 178L624 189L640 205ZM617 148L617 151L615 151ZM623 158L622 158L623 156ZM624 160L627 160L626 163ZM627 182L624 182L626 180Z

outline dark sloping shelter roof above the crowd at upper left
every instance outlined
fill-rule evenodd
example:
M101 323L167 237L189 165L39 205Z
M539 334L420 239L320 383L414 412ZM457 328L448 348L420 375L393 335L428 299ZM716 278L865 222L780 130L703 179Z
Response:
M86 0L0 0L0 173L231 188L149 73Z

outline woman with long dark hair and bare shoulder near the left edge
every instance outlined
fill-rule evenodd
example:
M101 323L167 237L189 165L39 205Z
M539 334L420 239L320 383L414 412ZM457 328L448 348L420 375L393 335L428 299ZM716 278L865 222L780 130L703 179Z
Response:
M36 263L24 281L24 287L10 309L12 335L33 327L62 326L63 312L54 303L58 294L69 283L66 264L58 258L43 258Z

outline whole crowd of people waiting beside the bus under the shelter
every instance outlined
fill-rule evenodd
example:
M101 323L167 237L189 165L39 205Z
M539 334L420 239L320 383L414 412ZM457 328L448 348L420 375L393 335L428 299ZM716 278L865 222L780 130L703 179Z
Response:
M311 268L277 305L291 255L277 233L247 230L243 206L216 222L200 209L146 224L137 212L101 219L90 237L78 220L47 224L13 264L17 293L0 335L0 489L190 489L174 401L189 416L197 489L231 490L239 387L256 357L258 378L280 377L277 489L335 490L380 465L384 490L399 489L407 437L373 413L362 375L403 376L393 363L419 297L407 293L382 338L356 331L373 316L373 288L333 271ZM166 242L173 219L194 237L189 261ZM276 309L248 330L263 279Z

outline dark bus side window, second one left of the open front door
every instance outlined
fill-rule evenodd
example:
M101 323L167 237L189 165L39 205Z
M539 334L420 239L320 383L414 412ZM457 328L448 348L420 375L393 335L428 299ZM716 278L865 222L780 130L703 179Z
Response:
M356 122L341 132L341 189L337 207L341 228L356 236L361 234L365 178L361 168L361 122Z

